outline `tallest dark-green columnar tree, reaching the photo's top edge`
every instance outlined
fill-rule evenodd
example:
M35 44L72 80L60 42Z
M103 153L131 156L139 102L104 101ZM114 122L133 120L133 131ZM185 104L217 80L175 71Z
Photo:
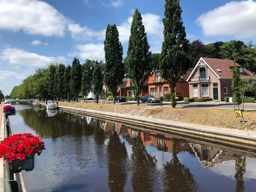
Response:
M189 41L186 39L185 27L181 19L179 0L166 0L165 18L163 18L162 52L159 58L161 77L171 88L171 105L177 105L175 87L177 81L189 69Z

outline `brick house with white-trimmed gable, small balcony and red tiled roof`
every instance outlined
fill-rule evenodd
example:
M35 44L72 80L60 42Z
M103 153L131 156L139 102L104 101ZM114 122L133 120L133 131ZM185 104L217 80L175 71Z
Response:
M252 81L255 76L241 65L241 78ZM214 101L224 101L225 97L233 96L231 90L232 68L234 61L216 58L200 58L192 73L186 80L189 84L189 98L210 97Z

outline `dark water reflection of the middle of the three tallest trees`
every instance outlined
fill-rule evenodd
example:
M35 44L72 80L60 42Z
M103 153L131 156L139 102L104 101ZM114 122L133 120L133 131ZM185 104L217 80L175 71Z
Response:
M131 155L131 171L132 171L132 186L134 191L154 191L154 186L157 185L156 163L155 157L148 154L140 137L133 140L133 154Z

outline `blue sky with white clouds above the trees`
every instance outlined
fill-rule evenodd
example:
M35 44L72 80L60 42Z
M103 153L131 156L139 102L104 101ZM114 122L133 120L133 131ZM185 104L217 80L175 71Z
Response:
M104 59L108 23L116 23L126 56L134 9L152 52L161 51L165 0L0 0L0 89L15 85L51 62L72 64ZM180 0L190 41L205 44L237 39L255 41L256 1Z

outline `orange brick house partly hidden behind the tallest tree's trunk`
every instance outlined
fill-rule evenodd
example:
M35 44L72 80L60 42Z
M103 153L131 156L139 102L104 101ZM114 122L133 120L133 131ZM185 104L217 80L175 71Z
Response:
M176 93L180 93L182 97L189 97L189 84L186 79L189 77L192 70L188 70L185 75L183 75L177 82L175 87ZM169 84L167 84L164 79L160 77L160 71L154 71L153 76L148 80L148 90L150 95L156 97L164 96L166 93L171 93Z

